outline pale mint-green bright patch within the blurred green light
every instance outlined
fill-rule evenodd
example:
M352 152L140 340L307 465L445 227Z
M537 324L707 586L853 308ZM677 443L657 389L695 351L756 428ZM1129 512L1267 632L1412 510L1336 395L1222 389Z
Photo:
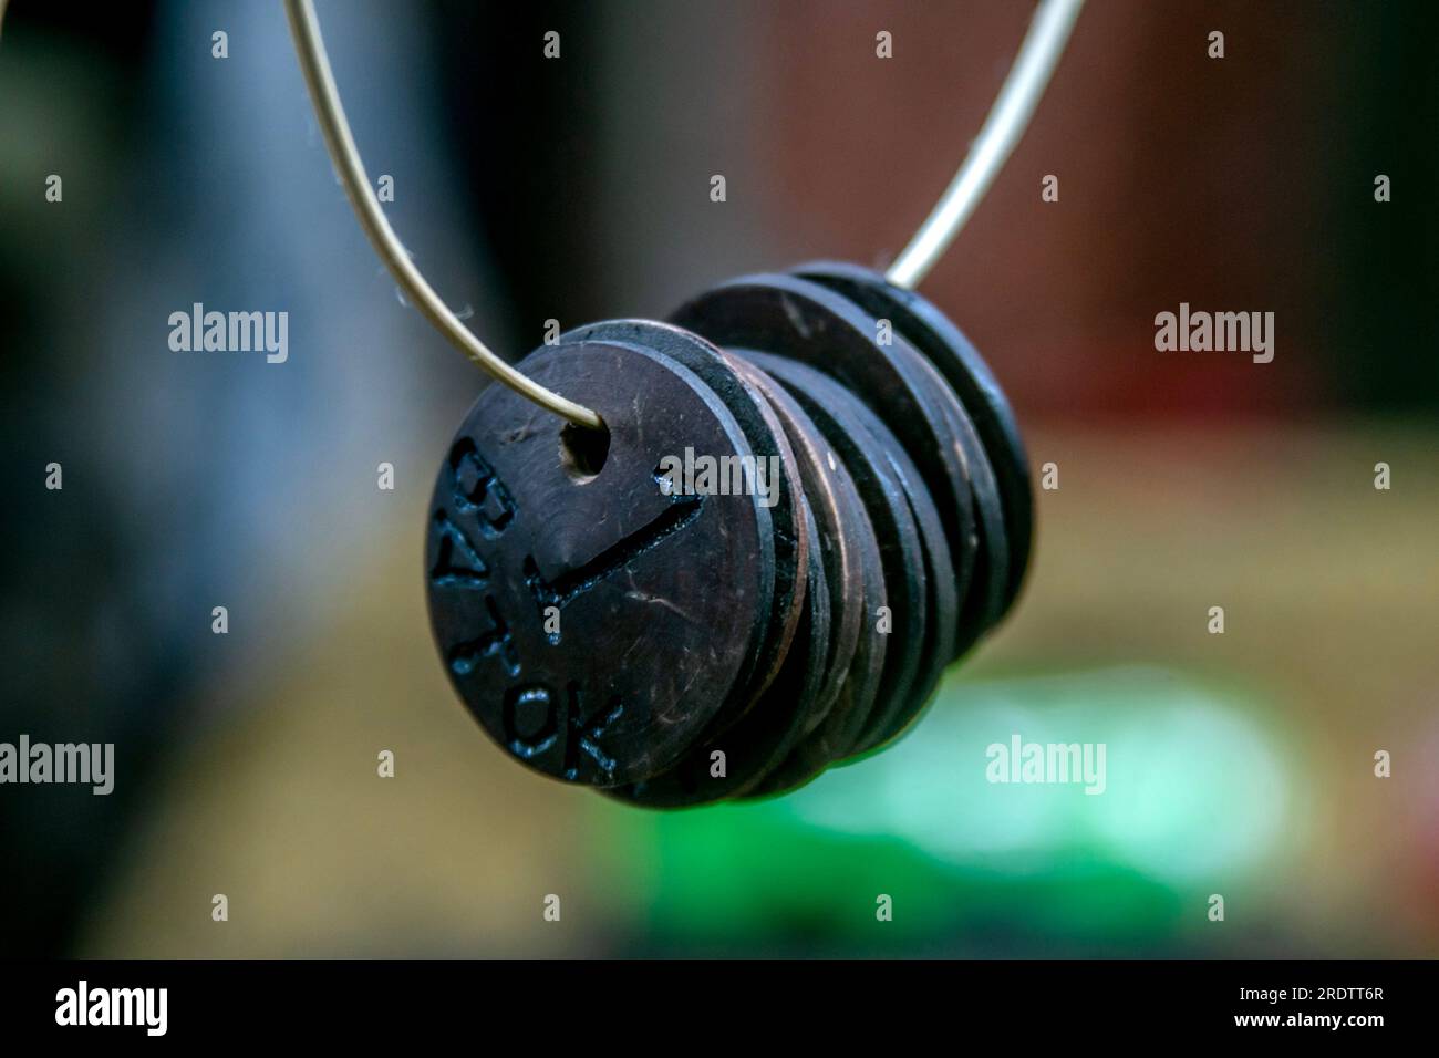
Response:
M1013 874L1085 848L1163 881L1243 867L1282 832L1286 769L1246 704L1158 669L963 684L898 744L791 797L836 833L892 835L957 865ZM990 783L986 749L1102 743L1107 783Z

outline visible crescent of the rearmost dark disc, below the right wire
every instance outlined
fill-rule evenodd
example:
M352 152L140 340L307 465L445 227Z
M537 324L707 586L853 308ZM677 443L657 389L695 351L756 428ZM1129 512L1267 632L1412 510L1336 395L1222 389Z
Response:
M878 272L837 261L816 261L791 272L829 286L871 315L892 321L954 387L989 452L1003 499L1004 531L1009 538L1007 609L1019 594L1029 567L1035 499L1019 423L994 373L944 312L922 295L889 284Z

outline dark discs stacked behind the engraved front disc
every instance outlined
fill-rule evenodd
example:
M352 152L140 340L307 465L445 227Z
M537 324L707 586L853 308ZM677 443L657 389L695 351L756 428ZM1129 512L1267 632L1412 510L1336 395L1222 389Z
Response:
M813 262L727 282L671 322L711 347L689 343L684 363L731 409L777 422L810 546L774 681L679 766L606 790L652 808L784 793L891 743L1013 606L1033 537L1013 412L968 340L912 291Z

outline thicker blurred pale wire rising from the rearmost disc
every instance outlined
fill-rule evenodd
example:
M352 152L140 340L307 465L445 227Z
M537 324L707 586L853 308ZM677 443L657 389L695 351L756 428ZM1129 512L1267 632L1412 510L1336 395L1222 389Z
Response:
M954 236L964 227L964 222L970 219L984 191L994 183L1014 144L1029 127L1029 119L1035 114L1039 96L1049 85L1081 7L1084 0L1040 0L1035 20L1025 35L1025 43L1020 45L1014 65L999 89L984 127L970 145L964 164L944 189L934 210L920 225L909 245L885 273L895 286L912 289L928 275L954 242Z

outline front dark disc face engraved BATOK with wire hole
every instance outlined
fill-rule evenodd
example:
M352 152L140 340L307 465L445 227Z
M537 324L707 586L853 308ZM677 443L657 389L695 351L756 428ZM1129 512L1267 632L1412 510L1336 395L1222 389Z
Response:
M446 672L517 760L570 782L672 766L758 651L773 527L747 495L665 495L685 446L747 455L730 410L686 369L635 347L543 347L521 370L609 428L597 472L563 422L485 389L429 508L425 574ZM724 570L722 577L715 570Z

